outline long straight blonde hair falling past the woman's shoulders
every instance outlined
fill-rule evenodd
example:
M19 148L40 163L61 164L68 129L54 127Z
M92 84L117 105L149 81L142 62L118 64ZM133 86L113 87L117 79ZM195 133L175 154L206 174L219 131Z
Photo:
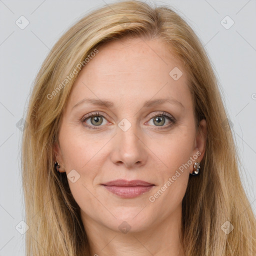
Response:
M223 128L227 113L203 45L172 9L135 0L109 4L80 19L56 42L35 78L22 138L25 222L29 226L26 255L89 255L86 230L66 174L54 169L53 144L58 141L59 120L79 73L74 69L93 50L100 51L104 42L125 36L167 42L188 75L197 123L202 118L207 121L202 168L197 177L189 178L182 200L185 254L255 256L256 220L240 181L232 132ZM226 221L233 226L229 233L222 230Z

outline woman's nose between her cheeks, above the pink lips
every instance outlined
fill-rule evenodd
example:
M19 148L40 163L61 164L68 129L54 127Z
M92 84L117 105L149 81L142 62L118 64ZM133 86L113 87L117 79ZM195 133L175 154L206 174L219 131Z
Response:
M123 131L117 127L117 134L112 141L111 161L126 168L135 168L145 164L147 159L146 146L142 131L131 125Z

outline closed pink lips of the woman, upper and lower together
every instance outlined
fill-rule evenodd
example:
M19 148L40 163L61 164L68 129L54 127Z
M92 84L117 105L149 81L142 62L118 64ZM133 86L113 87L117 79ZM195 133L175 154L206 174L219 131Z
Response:
M139 179L116 179L101 185L103 185L108 191L122 198L134 198L136 196L144 194L154 186L154 184L152 183Z

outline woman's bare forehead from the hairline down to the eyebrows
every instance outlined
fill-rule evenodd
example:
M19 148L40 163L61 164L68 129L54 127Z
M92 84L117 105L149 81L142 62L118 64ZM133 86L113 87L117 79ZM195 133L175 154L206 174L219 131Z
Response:
M173 72L181 76L175 80ZM159 39L124 38L98 48L74 82L70 101L109 98L120 105L134 103L138 98L143 102L154 96L181 100L187 95L181 61L171 54L166 43Z

